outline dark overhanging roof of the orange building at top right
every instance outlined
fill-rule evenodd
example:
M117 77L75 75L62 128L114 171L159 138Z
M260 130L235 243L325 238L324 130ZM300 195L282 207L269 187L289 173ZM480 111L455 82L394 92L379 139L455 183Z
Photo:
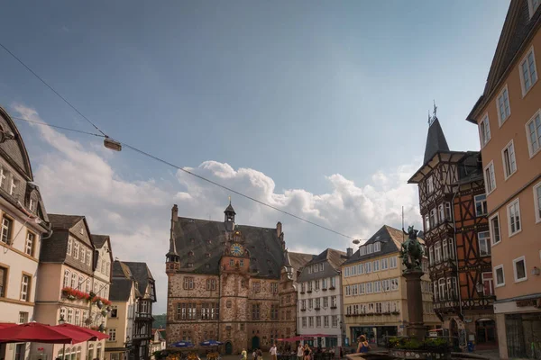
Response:
M530 19L527 0L511 0L483 94L473 106L466 118L467 121L476 123L475 112L481 110L491 100L491 94L499 88L501 78L506 76L531 36L539 30L539 26L541 26L541 6L537 7L536 13Z

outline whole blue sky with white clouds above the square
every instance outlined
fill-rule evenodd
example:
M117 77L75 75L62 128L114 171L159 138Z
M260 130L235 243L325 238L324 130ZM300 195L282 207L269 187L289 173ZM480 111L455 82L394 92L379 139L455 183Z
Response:
M353 238L420 227L428 112L454 150L481 95L509 0L10 2L0 42L110 137ZM0 106L96 130L0 49ZM283 223L290 250L351 239L101 139L17 121L47 211L87 216L114 256L146 261L165 311L170 208Z

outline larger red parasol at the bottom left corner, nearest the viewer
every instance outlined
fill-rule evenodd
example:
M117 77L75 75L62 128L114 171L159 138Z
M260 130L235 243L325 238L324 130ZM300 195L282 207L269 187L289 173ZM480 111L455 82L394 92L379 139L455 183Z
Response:
M78 344L89 338L92 336L69 329L55 329L39 322L29 322L0 329L0 343Z

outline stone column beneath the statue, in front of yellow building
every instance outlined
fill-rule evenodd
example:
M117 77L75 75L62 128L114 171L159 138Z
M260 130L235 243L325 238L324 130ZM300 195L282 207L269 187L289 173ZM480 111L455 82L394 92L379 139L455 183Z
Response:
M423 293L421 292L421 270L408 270L402 276L406 278L408 297L408 336L422 341L426 337L423 321Z

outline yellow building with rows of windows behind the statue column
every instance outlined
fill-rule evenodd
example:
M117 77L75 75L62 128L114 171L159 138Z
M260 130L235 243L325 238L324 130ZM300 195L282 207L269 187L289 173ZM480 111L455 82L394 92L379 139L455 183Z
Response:
M366 334L372 344L383 345L385 336L406 335L408 300L406 279L399 258L403 233L384 225L342 265L345 334L352 344ZM419 238L420 242L423 242ZM426 263L422 277L425 325L441 325L432 303Z

